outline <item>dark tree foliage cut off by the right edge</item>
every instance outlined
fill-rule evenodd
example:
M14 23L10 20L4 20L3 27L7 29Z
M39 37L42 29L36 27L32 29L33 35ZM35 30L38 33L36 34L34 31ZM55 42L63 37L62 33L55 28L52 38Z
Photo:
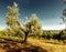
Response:
M66 0L63 0L64 3L66 3ZM61 39L66 38L66 9L63 10L63 17L61 18L63 20L62 23L65 24L65 29L59 32Z

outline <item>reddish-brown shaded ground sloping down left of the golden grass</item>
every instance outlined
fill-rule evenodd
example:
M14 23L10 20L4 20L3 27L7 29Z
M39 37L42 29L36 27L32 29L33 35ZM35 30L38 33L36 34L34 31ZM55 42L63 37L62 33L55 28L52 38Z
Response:
M8 43L9 42L9 43ZM29 42L18 43L8 41L4 43L0 43L0 52L47 52L46 50L32 45Z

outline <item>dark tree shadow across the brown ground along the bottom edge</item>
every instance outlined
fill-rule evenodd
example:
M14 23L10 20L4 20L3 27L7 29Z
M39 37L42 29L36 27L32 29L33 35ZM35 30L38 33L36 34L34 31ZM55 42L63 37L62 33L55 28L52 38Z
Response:
M23 46L23 48L19 48L19 46L4 46L4 50L7 50L6 52L47 52L45 49L42 49L40 46L34 46L34 45L29 45L29 46Z

